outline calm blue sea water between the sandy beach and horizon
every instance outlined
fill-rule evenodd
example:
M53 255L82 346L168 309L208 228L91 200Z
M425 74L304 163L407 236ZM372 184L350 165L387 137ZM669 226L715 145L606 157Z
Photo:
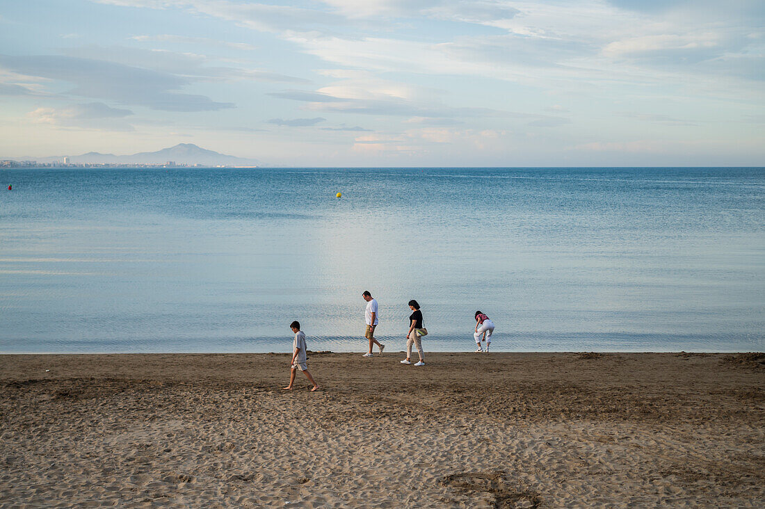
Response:
M0 351L762 351L765 169L0 171ZM5 191L13 184L13 191ZM343 197L335 194L341 191Z

